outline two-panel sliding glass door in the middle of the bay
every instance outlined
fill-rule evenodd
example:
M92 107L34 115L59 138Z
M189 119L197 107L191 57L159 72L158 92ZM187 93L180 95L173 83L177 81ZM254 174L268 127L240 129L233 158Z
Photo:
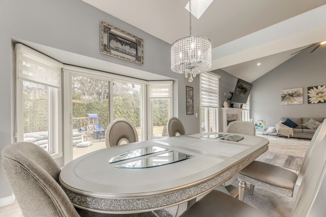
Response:
M132 122L139 141L145 140L144 89L147 81L67 65L63 71L64 126L72 128L72 132L79 130L85 144L76 144L74 135L65 131L65 163L105 148L106 128L116 118Z

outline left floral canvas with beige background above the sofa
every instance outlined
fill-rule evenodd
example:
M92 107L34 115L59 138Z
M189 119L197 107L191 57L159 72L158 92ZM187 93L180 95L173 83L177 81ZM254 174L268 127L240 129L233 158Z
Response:
M281 105L303 104L303 87L282 89Z

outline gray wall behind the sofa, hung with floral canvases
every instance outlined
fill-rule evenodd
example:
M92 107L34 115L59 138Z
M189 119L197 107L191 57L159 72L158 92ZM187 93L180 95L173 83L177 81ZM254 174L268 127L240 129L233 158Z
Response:
M251 92L251 117L274 126L281 117L326 117L326 104L308 104L308 87L326 85L326 46L313 53L306 49L255 80ZM303 104L281 105L281 90L303 87Z

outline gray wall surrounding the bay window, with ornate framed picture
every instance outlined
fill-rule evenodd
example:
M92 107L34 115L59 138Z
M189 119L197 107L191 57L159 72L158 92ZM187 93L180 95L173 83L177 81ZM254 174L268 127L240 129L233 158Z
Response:
M144 65L107 56L99 52L100 21L126 30L144 39ZM194 112L199 114L198 77L189 83L183 75L170 69L171 45L142 30L122 22L80 0L1 0L0 1L0 99L2 124L0 150L15 142L15 78L13 41L55 48L57 53L67 51L92 59L99 59L133 69L164 75L175 79L174 115L184 123L187 134L199 133L199 115L185 114L185 86L194 87ZM33 47L32 47L33 48ZM44 51L43 51L44 52ZM47 54L45 52L45 54ZM65 52L65 55L67 53ZM58 60L67 63L63 55ZM87 63L85 63L87 66ZM107 69L110 72L110 69ZM137 76L135 76L137 77ZM11 195L11 189L0 168L1 199Z

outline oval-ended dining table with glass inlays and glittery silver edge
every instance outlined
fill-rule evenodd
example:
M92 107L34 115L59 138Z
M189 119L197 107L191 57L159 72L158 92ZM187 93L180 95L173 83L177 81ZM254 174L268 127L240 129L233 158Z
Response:
M63 167L59 181L78 208L153 211L194 203L267 149L266 138L234 133L152 139L85 154Z

